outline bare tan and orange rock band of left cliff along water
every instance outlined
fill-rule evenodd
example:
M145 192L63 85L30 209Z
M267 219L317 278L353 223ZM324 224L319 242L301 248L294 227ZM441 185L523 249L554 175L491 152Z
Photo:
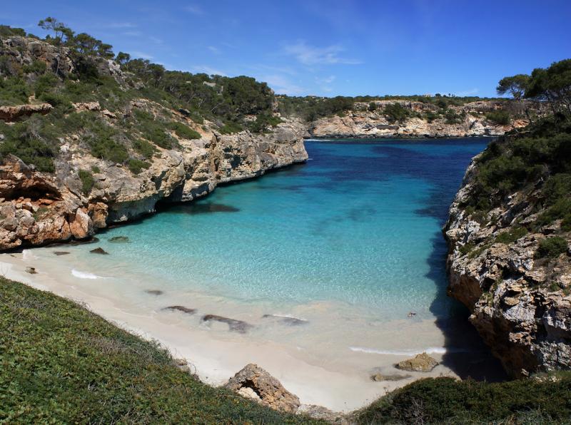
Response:
M159 201L179 202L211 193L218 183L253 178L307 159L295 123L270 134L221 135L206 131L181 148L160 150L133 175L121 164L89 155L75 135L61 140L55 175L39 173L9 155L0 166L0 249L84 239L98 228L153 213ZM79 170L97 170L89 194Z

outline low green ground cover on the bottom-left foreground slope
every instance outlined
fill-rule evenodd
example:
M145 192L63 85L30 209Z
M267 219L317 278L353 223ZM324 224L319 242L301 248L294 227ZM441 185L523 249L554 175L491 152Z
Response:
M202 384L155 342L0 278L0 422L300 423Z

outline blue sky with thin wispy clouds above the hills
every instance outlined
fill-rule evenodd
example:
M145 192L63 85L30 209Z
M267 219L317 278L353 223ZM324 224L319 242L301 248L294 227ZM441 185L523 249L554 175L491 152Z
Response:
M4 1L0 23L55 16L168 69L248 75L276 93L495 96L571 57L571 1Z

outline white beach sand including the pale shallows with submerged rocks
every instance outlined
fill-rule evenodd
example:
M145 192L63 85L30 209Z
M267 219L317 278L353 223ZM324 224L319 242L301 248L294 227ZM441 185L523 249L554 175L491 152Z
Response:
M54 250L71 248L2 254L0 274L84 303L123 329L158 340L174 357L188 359L196 367L198 376L209 384L223 384L246 364L256 363L299 396L302 404L351 411L414 379L442 374L453 376L453 372L440 365L430 373L410 373L413 378L399 382L370 380L374 372L403 373L394 369L395 362L430 347L433 347L433 357L440 359L444 337L432 320L404 318L390 323L366 322L330 304L314 303L300 306L293 314L307 318L308 324L268 324L268 319L261 319L263 310L256 306L240 309L228 300L196 293L151 296L141 288L156 289L156 286L141 282L136 290L148 297L145 304L136 297L121 295L116 286L104 279L94 279L96 275L73 263L73 256L56 257ZM48 252L54 258L46 260L48 257L36 256L34 252ZM36 267L38 273L26 273L29 266ZM163 306L198 307L198 313L191 316L148 307L157 304L159 299ZM243 319L256 328L247 334L228 332L226 324L201 323L200 317L206 313ZM274 312L277 313L290 314Z

